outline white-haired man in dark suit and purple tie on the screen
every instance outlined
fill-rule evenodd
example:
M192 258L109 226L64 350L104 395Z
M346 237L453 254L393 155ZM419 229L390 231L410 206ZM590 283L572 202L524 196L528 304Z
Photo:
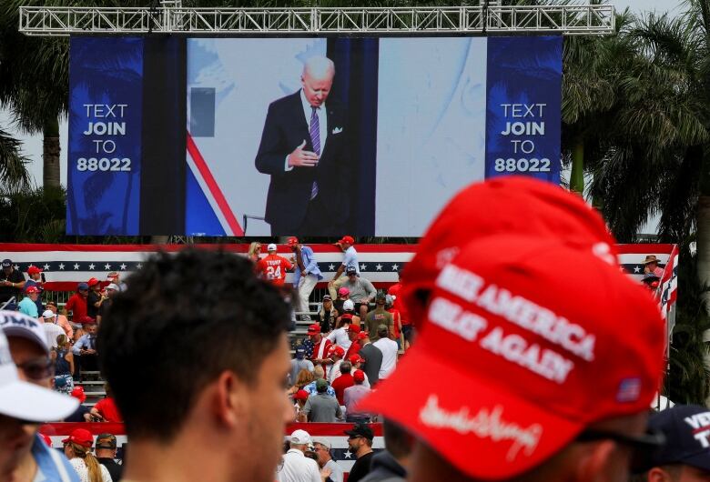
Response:
M327 101L335 66L311 57L295 94L269 105L255 164L271 176L266 221L274 236L340 236L350 210L345 115Z

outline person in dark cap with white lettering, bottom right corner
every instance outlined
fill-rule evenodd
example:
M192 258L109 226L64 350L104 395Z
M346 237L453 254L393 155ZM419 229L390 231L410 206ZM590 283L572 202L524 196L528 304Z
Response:
M652 433L663 434L665 445L639 457L631 482L707 482L710 480L710 411L696 405L676 405L648 420Z

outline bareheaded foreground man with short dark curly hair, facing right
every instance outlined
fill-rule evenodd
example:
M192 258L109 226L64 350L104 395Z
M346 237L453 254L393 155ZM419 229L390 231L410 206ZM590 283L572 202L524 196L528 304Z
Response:
M293 420L289 312L223 251L156 254L131 275L98 332L130 441L125 480L273 482Z

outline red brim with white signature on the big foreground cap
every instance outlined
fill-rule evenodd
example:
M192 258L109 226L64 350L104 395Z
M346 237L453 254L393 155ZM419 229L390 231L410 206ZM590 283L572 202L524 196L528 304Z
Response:
M397 422L462 473L483 480L525 473L583 430L416 348L359 407Z

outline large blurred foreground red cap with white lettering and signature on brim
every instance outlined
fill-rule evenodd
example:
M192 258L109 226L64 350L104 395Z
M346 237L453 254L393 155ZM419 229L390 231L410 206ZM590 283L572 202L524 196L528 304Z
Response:
M647 411L664 331L653 297L590 244L488 236L442 267L417 343L360 407L468 477L514 478L594 422Z

